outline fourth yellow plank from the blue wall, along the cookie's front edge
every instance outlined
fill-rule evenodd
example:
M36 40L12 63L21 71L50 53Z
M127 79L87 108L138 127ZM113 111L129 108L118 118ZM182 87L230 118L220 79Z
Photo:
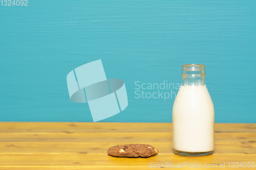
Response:
M101 154L81 155L0 155L0 166L148 166L153 163L183 163L211 164L220 162L255 162L255 154L216 154L202 157L185 157L176 154L156 155L150 158L115 158ZM33 160L33 161L32 161Z

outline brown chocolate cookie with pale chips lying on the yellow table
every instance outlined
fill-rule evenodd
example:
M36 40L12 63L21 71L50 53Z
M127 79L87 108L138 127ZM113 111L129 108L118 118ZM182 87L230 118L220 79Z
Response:
M158 150L149 144L124 144L109 148L108 154L114 157L147 158L158 154Z

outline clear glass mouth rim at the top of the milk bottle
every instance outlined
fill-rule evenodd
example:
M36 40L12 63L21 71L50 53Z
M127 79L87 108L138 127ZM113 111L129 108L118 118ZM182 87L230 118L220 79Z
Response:
M203 77L205 76L205 65L203 64L184 64L181 66L182 77Z

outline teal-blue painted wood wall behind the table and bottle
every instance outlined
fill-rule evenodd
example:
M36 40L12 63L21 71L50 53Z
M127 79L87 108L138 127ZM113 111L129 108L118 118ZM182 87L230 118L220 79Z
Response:
M217 123L256 123L256 1L49 1L0 6L0 121L92 122L66 76L102 60L128 107L101 122L172 122L173 99L135 99L136 81L181 83L206 66ZM174 90L178 91L178 90Z

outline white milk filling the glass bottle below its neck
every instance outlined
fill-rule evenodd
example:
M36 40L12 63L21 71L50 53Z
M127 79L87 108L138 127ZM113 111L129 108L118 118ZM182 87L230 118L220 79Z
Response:
M206 85L181 86L173 106L173 147L214 151L214 105Z

